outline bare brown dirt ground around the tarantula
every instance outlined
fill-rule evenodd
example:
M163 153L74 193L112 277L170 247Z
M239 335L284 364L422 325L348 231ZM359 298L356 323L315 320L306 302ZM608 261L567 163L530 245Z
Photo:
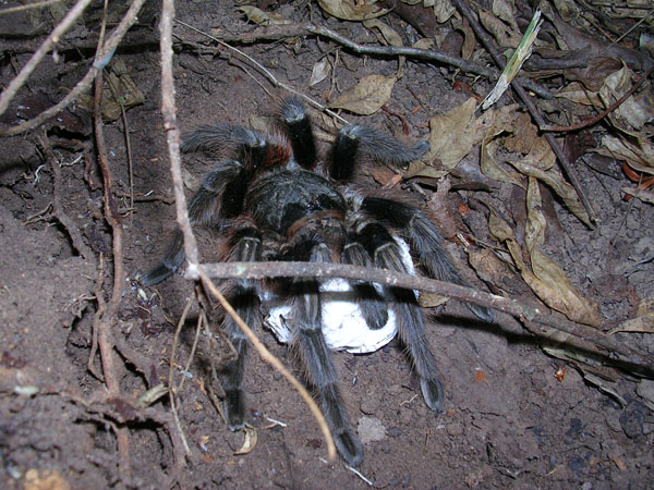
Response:
M184 369L194 341L196 306L191 308L175 350L173 381L179 385L185 378L177 396L179 427L172 419L168 395L147 408L138 408L137 402L148 389L168 384L175 326L187 298L194 297L193 284L182 274L156 289L143 289L137 282L140 274L161 256L174 222L159 112L159 2L146 3L126 47L116 54L143 93L143 102L126 110L125 120L119 112L118 119L107 121L104 128L128 275L111 327L120 399L99 402L106 388L98 353L90 358L95 375L88 368L94 324L98 308L111 295L113 267L92 114L76 103L45 126L46 139L59 162L58 192L53 191L56 172L37 138L40 130L1 140L3 487L652 488L651 380L597 360L592 372L603 379L606 389L602 391L593 378L584 377L591 371L584 370L581 363L566 363L545 353L538 336L514 318L498 313L494 324L485 324L453 301L428 313L433 320L429 342L446 391L441 414L425 406L395 341L368 355L335 354L351 421L364 441L365 461L358 469L367 482L342 460L325 460L325 442L306 405L255 353L247 359L246 392L247 421L256 430L257 442L250 453L235 454L245 434L230 432L221 420L209 395L217 388L207 376L209 360L218 362L226 347L220 342L210 347L207 336L201 335L193 362L187 371ZM377 42L361 23L326 19L315 2L261 3L271 4L276 13L293 22L312 21L359 42ZM119 20L122 11L112 14ZM69 48L60 50L59 57L46 57L2 115L3 127L35 115L82 78L93 60L93 33L97 33L99 17L98 10L87 12L84 21L62 38ZM219 37L233 38L256 28L232 2L179 1L177 17ZM412 32L393 14L385 19L402 33ZM20 28L21 22L13 22L0 16L2 33ZM43 23L37 24L38 28L47 34L52 24L45 11ZM272 87L252 64L226 50L216 56L213 48L199 45L204 42L202 36L180 24L175 24L174 32L179 36L174 39L178 118L183 131L211 120L249 125L253 115L275 114L283 90ZM26 63L43 34L8 39L12 49L3 49L0 58L2 87L15 76L14 63ZM367 75L392 75L398 68L397 60L356 56L315 36L238 46L280 82L322 102L335 99ZM337 51L337 71L308 87L314 64L323 57L334 60ZM453 88L455 79L470 84L477 94L489 89L484 79L455 75L453 70L425 62L409 61L403 72L387 107L401 114L408 127L407 139L412 142L426 138L431 117L459 107L470 97ZM501 105L512 102L508 96L505 99ZM548 103L550 108L556 103L559 109L564 107L561 101ZM322 133L335 134L327 119L317 112L314 115ZM343 115L350 122L402 133L402 122L389 112ZM594 131L601 134L606 127L596 126ZM473 150L464 164L474 168L479 159L479 150ZM185 159L185 183L196 185L210 164L206 159ZM603 326L609 329L634 317L641 301L652 297L654 207L638 199L622 200L620 189L632 184L618 162L613 162L610 175L584 164L577 170L598 215L598 224L594 230L585 226L542 186L549 207L545 252L561 265L572 284L600 306ZM364 179L368 185L379 185L370 176ZM451 180L456 185L465 179ZM130 182L135 196L133 208ZM500 183L495 183L492 192L453 187L448 216L457 218L441 226L473 235L481 244L492 244L488 211L479 199L483 196L484 203L519 222L524 215L524 197L512 187ZM436 181L404 180L397 188L421 192L428 201ZM76 237L71 226L55 217L53 203L71 220ZM470 213L461 219L458 210L464 206ZM468 266L461 242L449 243L450 252L475 286L536 301L519 274L510 284L484 284ZM203 257L209 260L210 236L201 235L201 244ZM493 246L501 247L497 243ZM287 346L267 331L257 333L293 373L300 375ZM654 354L651 334L616 333L613 339L646 356ZM123 467L119 465L116 438L120 427L128 427L131 475L119 469ZM181 471L175 473L179 439L175 442L171 433L177 434L180 428L191 454Z

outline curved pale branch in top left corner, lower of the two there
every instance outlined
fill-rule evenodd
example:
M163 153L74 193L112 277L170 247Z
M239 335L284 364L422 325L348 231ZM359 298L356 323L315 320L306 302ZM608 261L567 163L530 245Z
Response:
M35 127L43 124L48 119L66 108L73 100L77 98L77 96L80 96L80 94L82 94L88 87L90 87L90 84L95 79L98 72L102 70L109 63L109 61L111 61L111 58L116 52L116 48L124 37L125 33L136 22L138 11L141 10L145 1L146 0L134 0L132 2L130 9L128 10L128 12L125 12L124 16L120 21L120 24L118 24L118 26L113 29L107 41L102 44L101 50L98 51L98 53L96 53L93 66L88 70L86 75L84 75L84 78L82 78L77 83L77 85L75 85L75 87L71 91L69 91L69 94L59 103L52 106L50 109L46 109L44 112L38 114L36 118L31 119L29 121L25 121L24 123L21 123L16 126L12 126L4 131L0 131L0 136L11 136L14 134L23 133L25 131L34 130ZM11 84L13 84L16 78L14 78ZM17 88L20 88L20 86L16 87L16 90ZM0 96L0 100L2 99L2 97L4 97L8 90L9 87L2 93L2 95ZM11 95L11 97L13 97L13 94ZM9 105L9 100L7 101L7 103ZM0 113L2 113L4 110L7 110L7 108L2 109Z

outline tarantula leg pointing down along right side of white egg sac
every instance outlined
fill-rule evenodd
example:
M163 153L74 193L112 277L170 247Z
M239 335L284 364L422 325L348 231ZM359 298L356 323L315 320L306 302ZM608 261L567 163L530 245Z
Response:
M382 224L363 224L359 233L377 267L408 273L399 245ZM396 313L398 334L413 362L425 403L433 411L440 411L444 401L440 372L429 351L425 321L415 293L401 287L386 287L386 291Z

